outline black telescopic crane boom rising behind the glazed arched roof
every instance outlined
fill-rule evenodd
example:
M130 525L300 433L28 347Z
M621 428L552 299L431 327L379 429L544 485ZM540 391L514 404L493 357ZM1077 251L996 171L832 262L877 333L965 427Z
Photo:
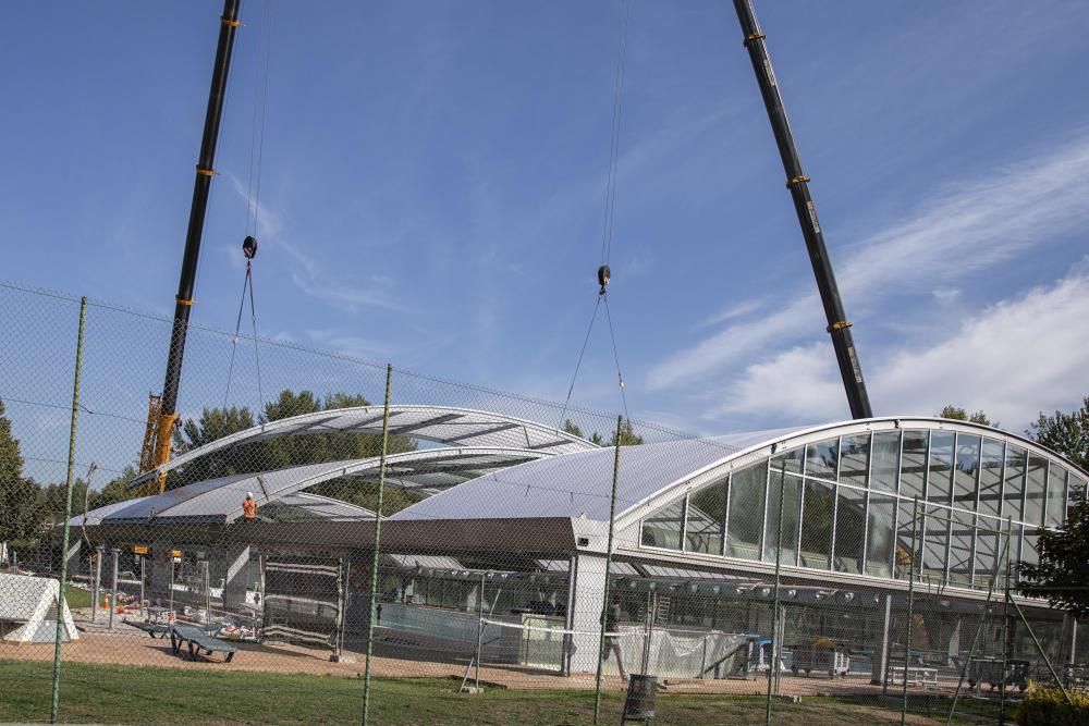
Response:
M763 104L768 109L768 119L771 121L771 130L775 134L779 155L783 158L786 187L791 190L794 209L798 214L798 222L802 224L802 236L805 237L809 261L812 263L813 274L817 276L817 288L820 291L824 316L828 319L827 330L832 336L832 347L835 348L835 359L840 365L840 376L847 393L851 416L856 419L870 418L873 416L873 411L870 409L866 381L862 379L862 368L858 362L855 342L851 335L851 323L847 322L847 316L843 310L843 300L840 299L835 273L832 271L832 262L824 246L824 235L817 221L817 207L809 194L809 177L802 170L802 160L798 158L798 149L794 145L794 135L791 133L791 123L786 119L786 109L783 107L783 97L780 95L775 72L772 70L771 59L768 57L764 35L760 32L751 0L734 0L734 9L737 11L737 20L742 24L745 47L748 49L749 60L752 61L752 70L756 72L756 79L760 85Z

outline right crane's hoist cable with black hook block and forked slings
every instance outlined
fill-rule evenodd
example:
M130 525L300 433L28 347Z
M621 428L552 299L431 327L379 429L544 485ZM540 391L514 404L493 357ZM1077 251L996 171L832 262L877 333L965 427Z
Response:
M624 418L631 422L632 416L627 408L627 394L624 391L624 374L620 367L620 353L616 348L616 335L613 331L612 315L609 311L609 280L612 272L609 269L609 258L612 253L613 220L616 212L616 169L620 161L620 127L624 109L624 72L627 69L627 28L632 16L632 0L623 0L624 10L621 16L620 50L616 58L616 79L613 87L613 115L612 127L609 138L609 174L605 181L605 208L604 220L601 229L601 267L598 268L598 291L597 303L594 305L594 313L590 316L590 324L586 330L586 337L583 340L583 348L578 353L578 362L575 364L575 372L571 377L571 385L567 387L567 397L563 402L563 409L560 411L560 427L566 424L567 408L571 406L571 396L575 391L575 381L578 379L578 371L583 366L583 356L586 355L586 346L589 343L590 334L594 332L594 322L598 317L598 308L602 300L605 304L605 319L609 322L609 340L612 343L613 360L616 364L616 381L620 386L621 399L624 404Z

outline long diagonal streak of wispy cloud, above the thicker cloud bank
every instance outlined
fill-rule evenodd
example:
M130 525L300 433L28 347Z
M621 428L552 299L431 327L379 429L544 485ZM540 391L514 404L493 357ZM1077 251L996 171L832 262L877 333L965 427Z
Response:
M1089 134L1082 134L1045 153L991 170L986 182L939 192L915 217L840 255L839 282L848 310L865 310L892 293L950 286L1089 223L1087 165ZM732 309L752 304L743 300ZM795 343L805 331L823 324L817 294L795 296L758 321L734 322L659 362L649 371L648 385L666 389L713 376L772 344Z

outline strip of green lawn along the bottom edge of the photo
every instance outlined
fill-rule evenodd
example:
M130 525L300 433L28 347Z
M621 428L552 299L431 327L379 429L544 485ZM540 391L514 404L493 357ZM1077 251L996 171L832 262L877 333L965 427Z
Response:
M362 667L362 666L360 666ZM51 664L0 661L0 723L48 721ZM375 679L370 722L376 725L590 724L594 693L489 689L468 696L437 679ZM623 694L604 696L603 724L620 723ZM898 711L876 703L807 699L776 702L782 726L898 724ZM61 681L61 722L122 724L360 723L363 681L306 675L231 670L136 668L68 663ZM935 714L937 715L937 714ZM763 724L758 697L659 694L654 724ZM943 723L928 721L926 723ZM914 723L923 723L915 721Z

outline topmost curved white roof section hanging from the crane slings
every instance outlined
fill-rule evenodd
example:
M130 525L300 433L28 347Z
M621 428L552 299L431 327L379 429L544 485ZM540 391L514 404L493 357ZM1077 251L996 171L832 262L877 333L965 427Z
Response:
M241 444L311 433L381 433L383 406L355 406L302 414L267 421L198 446L142 473L137 487L201 456ZM549 454L570 454L599 448L561 429L524 419L452 406L390 406L390 435L406 435L444 446L526 448Z

